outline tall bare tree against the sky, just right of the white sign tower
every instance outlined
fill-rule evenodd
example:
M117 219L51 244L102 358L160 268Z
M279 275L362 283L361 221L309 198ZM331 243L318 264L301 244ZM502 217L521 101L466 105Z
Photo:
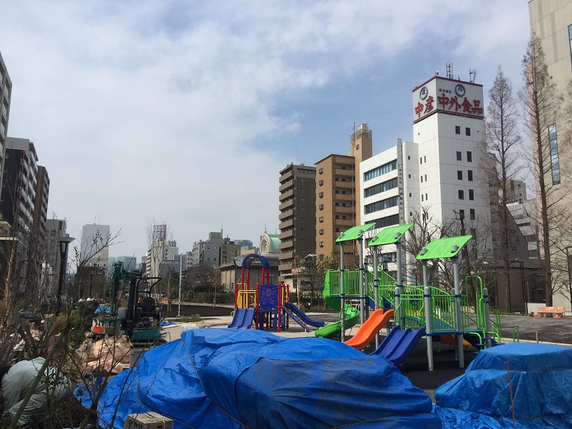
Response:
M493 87L489 90L489 106L486 109L486 150L491 162L485 165L491 191L491 216L498 217L492 228L493 238L500 243L500 260L503 262L506 310L510 302L510 252L509 252L509 191L510 180L515 178L518 145L521 136L518 128L518 111L512 96L512 83L498 67ZM487 168L488 167L488 168Z

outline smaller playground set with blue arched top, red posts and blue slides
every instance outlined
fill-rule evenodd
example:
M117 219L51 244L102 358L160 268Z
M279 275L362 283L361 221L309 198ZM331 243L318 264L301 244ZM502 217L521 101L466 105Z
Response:
M250 287L250 264L259 260L262 272L261 281L255 288ZM288 329L290 319L308 331L308 325L322 327L324 322L312 320L297 306L289 301L288 287L285 283L270 285L270 263L260 254L248 254L240 265L240 282L234 290L234 313L229 328L250 329L254 323L256 329L274 329L281 332Z

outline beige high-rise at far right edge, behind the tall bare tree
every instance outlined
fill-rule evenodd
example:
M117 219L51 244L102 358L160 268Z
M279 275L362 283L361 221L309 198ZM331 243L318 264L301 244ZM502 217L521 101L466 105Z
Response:
M541 41L548 74L552 76L557 93L569 103L568 84L572 80L572 1L571 0L531 0L529 1L531 30ZM563 106L564 107L564 106ZM542 154L535 151L535 156L543 157L547 165L544 172L547 206L550 207L548 230L550 231L550 264L552 265L552 305L564 306L571 311L572 293L572 242L568 234L560 231L570 229L570 225L562 225L563 217L557 213L566 213L572 205L572 176L567 172L572 168L572 148L566 144L566 123L569 121L566 110L561 108L549 123L541 130L543 135ZM552 122L552 121L550 121ZM536 206L542 207L540 182L537 179ZM540 217L539 217L540 219ZM540 237L543 236L542 224ZM543 256L543 249L540 248Z

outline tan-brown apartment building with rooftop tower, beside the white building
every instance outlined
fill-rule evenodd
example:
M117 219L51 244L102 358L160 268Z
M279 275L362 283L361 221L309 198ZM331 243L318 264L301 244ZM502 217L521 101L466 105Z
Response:
M350 153L329 155L316 165L315 253L319 258L339 251L336 238L360 224L360 163L372 157L372 131L362 123L350 139ZM347 252L353 253L352 249Z

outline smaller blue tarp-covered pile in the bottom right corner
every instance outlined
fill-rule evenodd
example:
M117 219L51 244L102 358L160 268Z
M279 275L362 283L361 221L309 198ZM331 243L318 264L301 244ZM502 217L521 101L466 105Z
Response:
M510 343L483 350L435 390L443 428L572 428L572 348Z

